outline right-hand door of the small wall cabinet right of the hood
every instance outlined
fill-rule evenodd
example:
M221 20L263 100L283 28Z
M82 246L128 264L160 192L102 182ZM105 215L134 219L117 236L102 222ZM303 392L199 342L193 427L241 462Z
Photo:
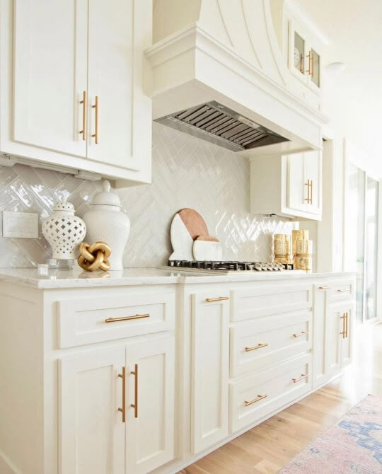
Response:
M320 151L307 151L303 154L304 187L309 190L306 211L311 214L322 212L321 191L322 154Z

